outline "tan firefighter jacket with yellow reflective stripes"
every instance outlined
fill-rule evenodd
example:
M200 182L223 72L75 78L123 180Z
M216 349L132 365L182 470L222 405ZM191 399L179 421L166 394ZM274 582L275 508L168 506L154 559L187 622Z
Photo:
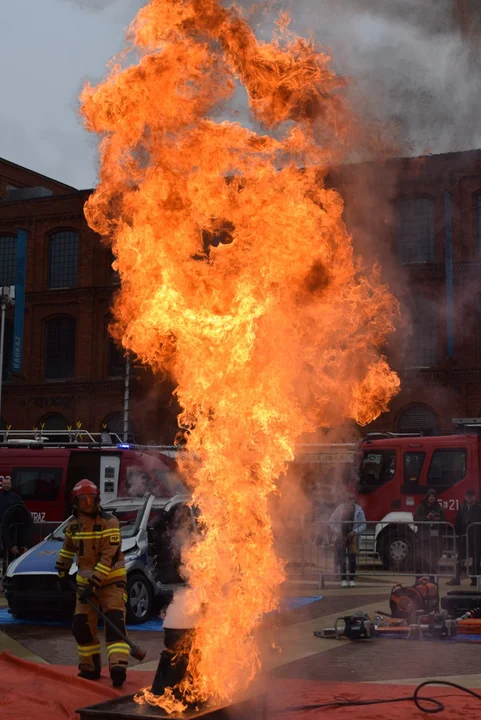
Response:
M118 520L100 510L98 515L78 513L65 530L56 568L68 572L77 556L77 583L96 587L125 582L125 560Z

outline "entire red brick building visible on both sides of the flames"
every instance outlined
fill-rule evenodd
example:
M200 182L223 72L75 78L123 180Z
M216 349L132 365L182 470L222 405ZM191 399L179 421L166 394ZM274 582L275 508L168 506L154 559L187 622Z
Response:
M453 417L481 417L481 151L351 165L332 182L356 249L379 257L402 309L386 348L402 390L368 429L452 432ZM17 229L28 231L19 376L11 310L6 328L2 422L14 428L122 428L125 364L107 333L118 278L84 219L89 192L0 160L0 285L13 282ZM171 390L134 369L136 439L172 441Z

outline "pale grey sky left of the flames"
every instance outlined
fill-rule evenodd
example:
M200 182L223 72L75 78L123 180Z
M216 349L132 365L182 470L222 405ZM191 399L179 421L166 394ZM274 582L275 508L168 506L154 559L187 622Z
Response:
M141 4L0 0L0 157L92 186L95 139L77 116L78 94L86 78L102 77Z

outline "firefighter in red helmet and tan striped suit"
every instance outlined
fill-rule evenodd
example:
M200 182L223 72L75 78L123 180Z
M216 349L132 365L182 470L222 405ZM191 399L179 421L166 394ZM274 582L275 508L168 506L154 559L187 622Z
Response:
M77 641L79 677L100 677L98 616L87 602L101 607L109 620L125 635L126 572L118 520L100 507L99 490L90 480L81 480L72 491L73 518L57 560L61 582L69 581L69 570L77 556L77 603L72 632ZM105 644L114 687L125 682L129 646L106 625Z

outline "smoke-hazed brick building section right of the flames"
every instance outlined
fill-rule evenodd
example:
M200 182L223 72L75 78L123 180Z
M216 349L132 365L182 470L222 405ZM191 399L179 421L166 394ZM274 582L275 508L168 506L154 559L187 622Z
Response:
M350 166L335 182L355 245L380 258L401 303L386 348L401 392L368 430L449 433L454 417L481 418L481 151Z

